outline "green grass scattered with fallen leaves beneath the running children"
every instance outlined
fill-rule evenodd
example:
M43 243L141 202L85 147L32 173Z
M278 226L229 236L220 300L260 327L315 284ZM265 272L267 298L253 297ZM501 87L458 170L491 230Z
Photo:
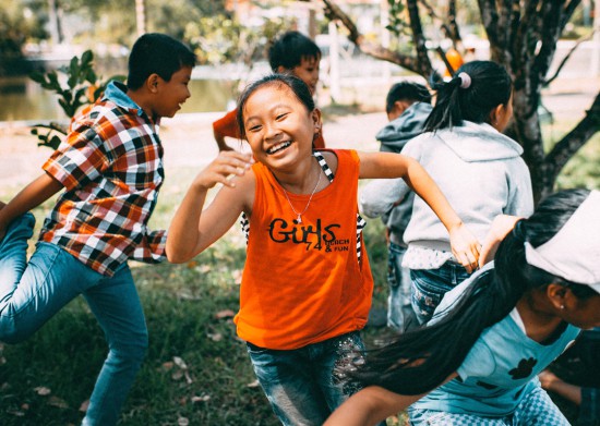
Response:
M569 162L561 187L599 187L600 135ZM194 170L169 173L152 228L168 226ZM14 195L4 188L0 199ZM51 203L35 209L38 222ZM375 279L374 305L385 307L386 247L380 220L365 241ZM244 242L231 230L185 265L132 263L146 313L149 350L123 407L121 425L277 425L256 386L231 315L239 304ZM368 344L388 336L365 329ZM77 425L106 356L106 342L85 302L77 297L37 333L17 345L0 345L0 424ZM389 418L404 424L404 416Z

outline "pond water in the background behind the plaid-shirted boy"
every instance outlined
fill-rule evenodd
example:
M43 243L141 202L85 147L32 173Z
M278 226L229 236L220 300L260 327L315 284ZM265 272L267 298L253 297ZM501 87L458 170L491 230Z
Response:
M192 97L180 112L224 111L235 99L236 83L224 80L192 80ZM26 76L0 78L0 121L64 120L58 96Z

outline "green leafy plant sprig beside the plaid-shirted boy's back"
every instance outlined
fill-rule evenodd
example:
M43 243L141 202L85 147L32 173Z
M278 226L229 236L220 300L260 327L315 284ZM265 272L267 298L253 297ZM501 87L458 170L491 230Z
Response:
M64 78L61 78L64 77ZM124 76L116 75L107 81L101 81L94 71L94 53L86 50L81 59L76 56L71 59L68 66L61 66L57 71L36 71L29 77L44 89L55 92L58 102L67 117L72 119L85 105L96 101L106 89L110 80L124 81ZM44 130L44 133L41 132ZM60 135L67 134L67 127L60 123L35 124L32 134L39 139L39 146L56 149L61 142Z

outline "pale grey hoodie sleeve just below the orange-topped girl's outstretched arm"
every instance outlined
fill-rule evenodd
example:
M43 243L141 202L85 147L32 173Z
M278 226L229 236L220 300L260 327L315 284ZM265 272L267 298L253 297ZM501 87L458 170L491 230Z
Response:
M360 191L359 207L369 218L385 215L409 193L403 179L376 179Z

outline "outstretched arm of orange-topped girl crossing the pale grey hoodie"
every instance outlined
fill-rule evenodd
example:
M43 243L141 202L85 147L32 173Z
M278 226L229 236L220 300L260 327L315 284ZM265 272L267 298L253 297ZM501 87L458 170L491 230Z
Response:
M480 243L463 223L433 179L413 158L394 153L358 153L361 179L403 178L437 215L448 230L452 252L472 272L477 269Z

